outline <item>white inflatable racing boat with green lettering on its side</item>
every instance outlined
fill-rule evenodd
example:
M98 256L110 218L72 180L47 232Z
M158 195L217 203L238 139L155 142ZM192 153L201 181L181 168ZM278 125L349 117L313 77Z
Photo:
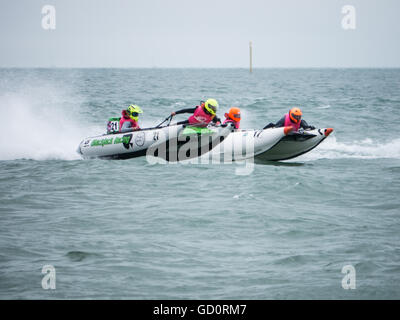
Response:
M77 151L85 159L129 159L147 155L181 161L209 152L233 130L232 124L205 128L171 124L86 138Z

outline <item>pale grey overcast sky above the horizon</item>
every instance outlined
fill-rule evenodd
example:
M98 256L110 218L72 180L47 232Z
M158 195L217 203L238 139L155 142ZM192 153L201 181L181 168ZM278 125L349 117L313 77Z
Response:
M254 67L400 67L400 1L0 0L0 39L1 67L247 68L250 40Z

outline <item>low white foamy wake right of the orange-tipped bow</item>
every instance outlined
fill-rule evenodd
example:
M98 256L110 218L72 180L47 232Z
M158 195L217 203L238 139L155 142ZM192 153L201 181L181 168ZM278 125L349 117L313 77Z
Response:
M400 138L386 143L380 143L370 138L349 143L338 142L335 136L331 136L317 148L297 160L313 161L318 159L400 159Z

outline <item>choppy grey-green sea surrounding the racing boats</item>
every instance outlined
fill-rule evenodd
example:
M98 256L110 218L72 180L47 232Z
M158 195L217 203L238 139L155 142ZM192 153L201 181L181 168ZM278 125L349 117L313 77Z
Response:
M209 97L334 132L249 175L76 153ZM0 69L0 115L1 299L400 298L399 69Z

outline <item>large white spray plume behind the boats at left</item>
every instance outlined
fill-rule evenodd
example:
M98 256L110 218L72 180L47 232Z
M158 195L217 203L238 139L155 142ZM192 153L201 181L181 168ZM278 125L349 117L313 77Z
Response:
M101 130L62 108L65 97L54 101L53 91L46 101L44 94L38 89L33 96L32 91L0 96L0 160L77 160L80 141Z

